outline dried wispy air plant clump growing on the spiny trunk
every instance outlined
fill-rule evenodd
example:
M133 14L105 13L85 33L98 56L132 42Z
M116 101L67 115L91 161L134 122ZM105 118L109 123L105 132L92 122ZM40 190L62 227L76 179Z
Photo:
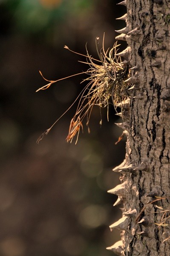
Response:
M96 49L99 57L98 60L93 58L91 55L89 55L87 47L86 47L86 55L80 54L78 52L74 52L70 50L67 46L64 47L66 49L69 49L69 51L71 52L74 52L76 54L86 57L86 62L84 61L80 61L80 62L89 65L89 69L86 72L82 72L88 75L88 77L83 80L83 81L87 81L88 83L84 87L84 89L81 91L77 99L75 99L75 101L72 103L73 105L79 99L75 116L72 118L70 122L69 134L66 137L67 142L69 141L72 142L73 137L77 134L77 139L75 144L77 143L80 128L82 128L82 131L83 131L82 121L84 117L86 117L86 126L88 127L88 132L90 132L89 119L90 119L92 108L94 105L97 105L100 108L100 113L101 113L101 108L107 107L107 119L109 120L109 117L108 117L109 104L112 103L116 110L119 103L127 99L127 96L124 96L123 91L127 88L127 83L124 83L124 81L129 77L129 69L127 67L127 64L124 64L121 61L121 57L117 55L119 45L116 42L112 47L112 49L110 50L107 49L107 51L105 51L104 38L103 38L102 49L99 51L98 41L99 41L99 38L96 38L95 44L96 44ZM72 76L80 75L82 73L78 73ZM40 74L43 77L41 72ZM68 76L66 78L69 78L72 76ZM66 79L66 78L63 78L63 79ZM43 77L43 79L45 78ZM56 81L49 81L45 79L49 83L39 88L37 91L46 90L53 83L63 79L58 79ZM72 105L68 108L68 110L72 107ZM65 111L63 115L67 111ZM57 119L55 123L58 122L59 119ZM49 131L55 125L55 123L38 138L37 143L39 143L39 141L42 140L45 134L47 135L49 133ZM102 124L102 118L100 120L100 124Z

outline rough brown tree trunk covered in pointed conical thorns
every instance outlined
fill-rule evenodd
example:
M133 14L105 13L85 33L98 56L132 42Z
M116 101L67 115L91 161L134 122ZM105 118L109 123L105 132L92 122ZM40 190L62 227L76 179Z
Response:
M121 241L109 250L126 256L170 256L170 0L125 0L125 60L131 67L129 116L121 185L123 217L110 229ZM129 51L130 50L130 51ZM129 53L129 54L128 54ZM169 239L168 239L169 238Z

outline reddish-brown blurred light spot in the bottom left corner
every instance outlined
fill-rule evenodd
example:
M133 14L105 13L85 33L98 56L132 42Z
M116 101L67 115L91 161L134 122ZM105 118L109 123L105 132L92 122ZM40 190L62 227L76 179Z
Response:
M20 238L7 238L0 242L0 250L3 256L20 256L24 255L26 246Z

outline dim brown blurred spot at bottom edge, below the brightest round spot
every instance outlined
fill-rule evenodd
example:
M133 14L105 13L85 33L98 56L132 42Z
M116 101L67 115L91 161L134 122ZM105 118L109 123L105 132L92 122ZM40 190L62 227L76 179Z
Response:
M63 239L63 250L71 256L81 255L86 247L86 241L81 236L68 236Z

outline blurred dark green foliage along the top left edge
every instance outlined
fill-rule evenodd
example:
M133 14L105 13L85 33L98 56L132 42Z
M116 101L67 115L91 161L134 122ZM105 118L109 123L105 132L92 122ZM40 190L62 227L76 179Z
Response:
M44 4L44 3L46 4ZM49 1L50 2L50 1ZM53 1L54 2L54 1ZM47 29L66 23L73 17L87 15L95 8L96 1L90 0L61 0L58 4L50 5L48 1L38 0L3 0L0 3L3 12L11 16L15 32L23 35L46 34Z

